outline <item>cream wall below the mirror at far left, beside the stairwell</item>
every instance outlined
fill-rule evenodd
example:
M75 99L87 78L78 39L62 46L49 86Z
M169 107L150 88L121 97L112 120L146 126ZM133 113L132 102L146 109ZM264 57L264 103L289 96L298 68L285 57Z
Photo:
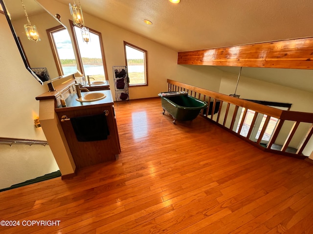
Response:
M45 140L35 128L35 97L46 92L25 68L7 21L0 14L0 137ZM49 146L0 144L0 189L59 170Z

